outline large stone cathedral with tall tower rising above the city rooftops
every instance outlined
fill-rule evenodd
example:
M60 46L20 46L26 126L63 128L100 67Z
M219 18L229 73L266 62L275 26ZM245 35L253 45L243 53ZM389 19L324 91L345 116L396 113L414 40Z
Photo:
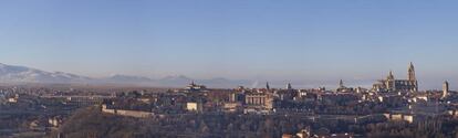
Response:
M407 79L395 79L393 72L389 72L386 79L381 79L373 85L373 91L376 92L417 92L418 82L415 77L414 64L410 62L408 66Z

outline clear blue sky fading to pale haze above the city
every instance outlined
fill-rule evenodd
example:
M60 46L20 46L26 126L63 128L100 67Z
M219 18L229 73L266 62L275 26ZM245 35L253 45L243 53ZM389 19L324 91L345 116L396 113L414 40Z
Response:
M458 83L454 0L3 0L0 63L92 77Z

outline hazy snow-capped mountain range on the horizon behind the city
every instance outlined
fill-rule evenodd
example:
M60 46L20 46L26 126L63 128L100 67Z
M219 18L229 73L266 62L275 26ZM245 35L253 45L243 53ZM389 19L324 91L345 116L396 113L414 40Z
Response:
M137 86L183 87L189 84L191 81L211 87L236 87L239 85L249 85L251 83L250 81L227 79L222 77L210 79L194 79L185 75L173 75L154 79L144 76L116 74L108 77L95 78L64 72L46 72L25 66L7 65L0 63L0 83L123 84Z

